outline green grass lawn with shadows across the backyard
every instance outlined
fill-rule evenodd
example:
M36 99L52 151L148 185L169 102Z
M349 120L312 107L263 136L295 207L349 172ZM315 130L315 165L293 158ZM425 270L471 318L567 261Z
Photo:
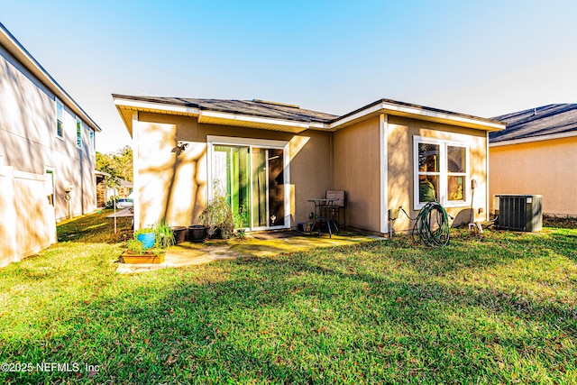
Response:
M128 226L0 270L0 383L577 383L577 230L116 274Z

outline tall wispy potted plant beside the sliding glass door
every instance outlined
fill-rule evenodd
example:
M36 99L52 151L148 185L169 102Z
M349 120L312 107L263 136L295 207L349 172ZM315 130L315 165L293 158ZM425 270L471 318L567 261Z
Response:
M206 225L210 237L220 233L220 237L227 239L234 234L233 210L218 179L213 183L213 191L212 200L206 204L198 219L201 225Z

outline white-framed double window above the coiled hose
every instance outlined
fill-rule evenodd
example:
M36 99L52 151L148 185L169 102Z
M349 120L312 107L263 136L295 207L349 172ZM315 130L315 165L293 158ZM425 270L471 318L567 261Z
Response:
M415 209L436 201L443 206L467 202L469 148L462 142L415 136Z

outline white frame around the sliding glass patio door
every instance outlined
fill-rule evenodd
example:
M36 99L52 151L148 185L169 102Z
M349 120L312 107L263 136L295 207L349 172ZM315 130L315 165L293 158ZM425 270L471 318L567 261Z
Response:
M208 177L207 183L207 193L208 196L206 197L206 201L208 201L208 197L212 197L214 194L213 191L213 160L214 160L214 150L215 145L241 145L241 146L248 146L251 147L266 147L271 149L279 149L283 150L284 156L284 169L283 169L283 178L284 178L284 194L285 194L285 218L284 218L284 225L278 225L273 227L250 227L251 230L266 230L270 228L290 228L290 218L291 218L291 211L290 211L290 155L289 155L289 142L285 141L275 141L275 140L268 140L268 139L251 139L251 138L240 138L240 137L233 137L233 136L213 136L207 135L206 136L206 156L207 156L207 173L206 176Z

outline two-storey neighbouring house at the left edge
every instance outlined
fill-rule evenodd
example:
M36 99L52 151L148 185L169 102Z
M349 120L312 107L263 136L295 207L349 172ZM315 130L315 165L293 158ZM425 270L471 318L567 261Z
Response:
M96 209L99 131L0 24L0 266L55 243L57 221Z

